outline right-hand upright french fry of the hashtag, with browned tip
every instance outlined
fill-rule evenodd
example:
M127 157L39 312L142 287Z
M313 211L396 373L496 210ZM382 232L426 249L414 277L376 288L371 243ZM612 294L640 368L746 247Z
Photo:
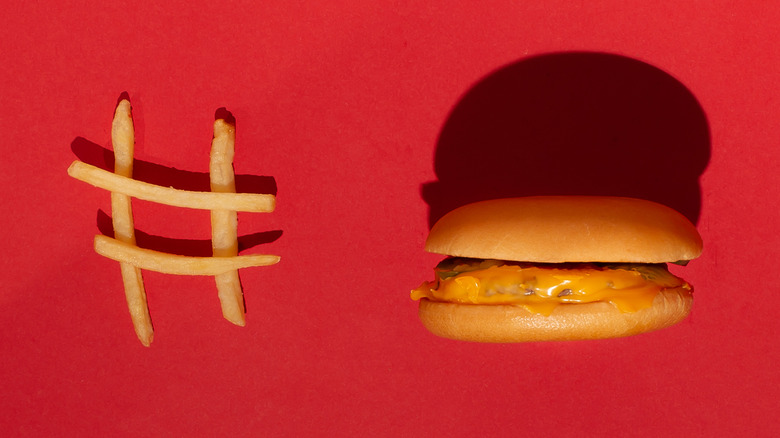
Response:
M214 122L214 139L211 142L209 177L214 193L235 193L236 178L233 172L236 128L223 119ZM211 210L211 248L214 257L238 255L238 217L235 210ZM246 325L244 294L237 270L217 274L217 284L222 316L238 326Z

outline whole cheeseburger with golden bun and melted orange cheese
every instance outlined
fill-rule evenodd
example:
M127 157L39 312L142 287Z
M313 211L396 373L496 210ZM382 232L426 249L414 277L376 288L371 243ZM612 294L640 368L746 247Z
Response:
M446 255L412 291L432 333L476 342L631 336L691 311L690 284L667 263L702 251L694 225L654 202L600 196L497 199L460 207L431 229Z

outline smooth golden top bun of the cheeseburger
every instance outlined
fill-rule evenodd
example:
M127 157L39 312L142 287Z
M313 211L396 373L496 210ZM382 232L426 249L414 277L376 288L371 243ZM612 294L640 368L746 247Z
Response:
M702 240L685 216L655 202L534 196L457 208L436 222L425 250L537 263L666 263L698 257Z

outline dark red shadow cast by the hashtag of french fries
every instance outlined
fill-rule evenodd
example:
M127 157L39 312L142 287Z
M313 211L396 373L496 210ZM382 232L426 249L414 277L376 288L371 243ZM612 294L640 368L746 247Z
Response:
M126 98L126 94L123 94ZM121 100L121 97L120 97ZM225 119L235 123L233 115L224 108L215 113L216 119ZM113 172L114 153L83 137L77 137L71 142L71 150L84 163ZM138 181L162 187L174 187L188 191L210 191L210 176L206 172L192 172L162 166L148 161L133 160L133 178ZM270 176L236 175L236 191L239 193L264 193L276 195L276 180ZM175 208L175 207L172 207ZM96 224L99 232L113 237L114 230L111 216L98 210ZM263 231L238 236L238 249L243 251L254 246L271 243L282 236L281 230ZM142 248L170 254L210 257L212 255L209 239L176 239L156 236L142 230L135 230L136 244Z

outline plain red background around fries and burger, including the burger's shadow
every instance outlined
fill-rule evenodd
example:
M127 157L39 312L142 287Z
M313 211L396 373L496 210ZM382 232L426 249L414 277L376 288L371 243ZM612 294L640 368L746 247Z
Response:
M13 1L0 27L5 436L780 433L772 2L87 3ZM282 256L241 271L245 328L213 279L147 272L156 336L136 339L92 250L109 196L65 172L103 159L125 91L139 178L202 183L225 107L236 172L276 185L276 212L239 215L281 230L244 252ZM425 331L429 216L545 191L684 210L692 315L593 342ZM209 238L205 212L134 207L150 244Z

